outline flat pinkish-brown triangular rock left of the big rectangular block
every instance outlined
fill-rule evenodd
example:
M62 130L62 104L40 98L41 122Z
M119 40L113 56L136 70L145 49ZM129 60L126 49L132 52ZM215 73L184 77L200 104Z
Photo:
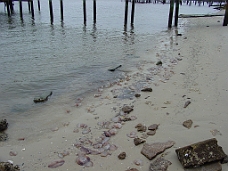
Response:
M153 144L147 144L145 143L143 145L143 148L141 150L141 153L147 157L149 160L152 160L155 158L158 154L165 151L167 148L172 147L175 144L174 141L167 141L164 143L153 143Z

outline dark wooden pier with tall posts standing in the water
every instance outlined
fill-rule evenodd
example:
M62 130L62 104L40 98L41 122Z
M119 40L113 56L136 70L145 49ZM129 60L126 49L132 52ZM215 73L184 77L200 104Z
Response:
M7 8L7 14L10 17L14 13L14 2L19 2L19 11L20 11L20 17L21 20L23 20L23 9L22 9L22 2L28 3L28 9L29 12L32 14L32 18L34 19L34 0L0 0L0 3L4 3ZM40 0L36 0L38 4L38 10L40 11ZM50 21L51 24L53 24L54 21L54 14L53 14L53 7L52 7L52 0L49 1L49 10L50 10ZM63 1L60 1L60 14L61 14L61 21L63 21ZM128 18L128 3L132 3L132 11L131 11L131 26L134 24L134 14L135 14L135 3L169 3L170 4L170 10L169 10L169 17L168 17L168 27L172 27L172 20L173 20L173 13L174 13L174 6L175 6L175 16L174 16L174 26L177 27L178 25L178 18L179 18L179 6L182 5L182 3L186 3L188 5L191 4L205 4L207 3L208 6L214 6L213 3L217 3L216 6L218 8L221 8L222 5L224 6L225 14L224 14L224 21L223 26L228 25L228 0L121 0L125 2L125 16L124 16L124 26L127 26L127 18ZM84 25L86 25L86 0L83 0L83 16L84 16ZM183 17L183 16L182 16ZM197 17L197 16L196 16ZM205 16L207 17L207 16ZM96 0L93 0L93 20L94 23L96 23Z

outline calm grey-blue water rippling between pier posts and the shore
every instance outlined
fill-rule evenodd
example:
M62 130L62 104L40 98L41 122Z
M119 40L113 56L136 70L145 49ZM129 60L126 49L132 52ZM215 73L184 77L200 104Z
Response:
M50 23L47 0L41 0L31 18L23 2L23 21L18 3L8 18L0 4L0 118L24 121L59 99L76 101L102 85L120 78L122 72L108 68L134 68L143 58L153 58L157 42L167 36L168 4L136 4L135 24L124 30L125 3L97 0L97 23L93 24L93 1L87 0L87 24L83 24L82 1L64 0L64 21L59 1L53 1L54 22ZM129 3L129 20L131 3ZM180 7L180 13L211 13L207 6ZM45 104L33 99L53 92ZM24 122L22 122L24 124ZM21 123L21 124L22 124ZM32 126L32 125L30 125ZM29 127L29 126L28 126Z

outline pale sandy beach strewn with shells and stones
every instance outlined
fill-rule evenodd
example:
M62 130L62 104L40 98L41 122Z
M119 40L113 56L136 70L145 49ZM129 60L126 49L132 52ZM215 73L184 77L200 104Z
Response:
M147 52L156 56L155 61L140 61L135 70L126 72L125 79L78 99L74 106L63 104L53 110L53 115L62 113L50 118L53 123L61 120L56 127L45 132L40 129L37 138L25 135L0 142L0 161L11 160L24 171L149 170L155 159L148 160L141 154L143 144L134 144L130 137L134 134L148 144L175 142L157 156L172 163L169 171L184 170L175 150L192 143L216 138L228 154L228 34L222 22L223 17L185 19L155 50ZM162 65L156 65L158 61ZM126 68L123 65L119 70ZM152 88L152 92L142 92L143 88ZM184 107L187 101L191 103ZM124 106L133 111L124 113ZM124 122L124 118L130 120ZM182 123L189 119L193 124L188 129ZM146 127L158 124L156 134L138 132L135 126L139 123ZM10 135L12 129L16 130L10 125L6 132ZM86 154L90 167L75 162L85 152L93 153ZM121 152L126 153L123 160L118 158ZM54 161L63 165L49 168ZM228 165L222 168L228 170Z

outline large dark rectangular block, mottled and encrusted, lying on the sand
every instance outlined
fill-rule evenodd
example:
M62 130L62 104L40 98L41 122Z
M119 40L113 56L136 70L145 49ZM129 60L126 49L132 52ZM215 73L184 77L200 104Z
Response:
M222 147L218 146L215 138L179 148L176 150L176 154L184 168L221 161L226 157Z

